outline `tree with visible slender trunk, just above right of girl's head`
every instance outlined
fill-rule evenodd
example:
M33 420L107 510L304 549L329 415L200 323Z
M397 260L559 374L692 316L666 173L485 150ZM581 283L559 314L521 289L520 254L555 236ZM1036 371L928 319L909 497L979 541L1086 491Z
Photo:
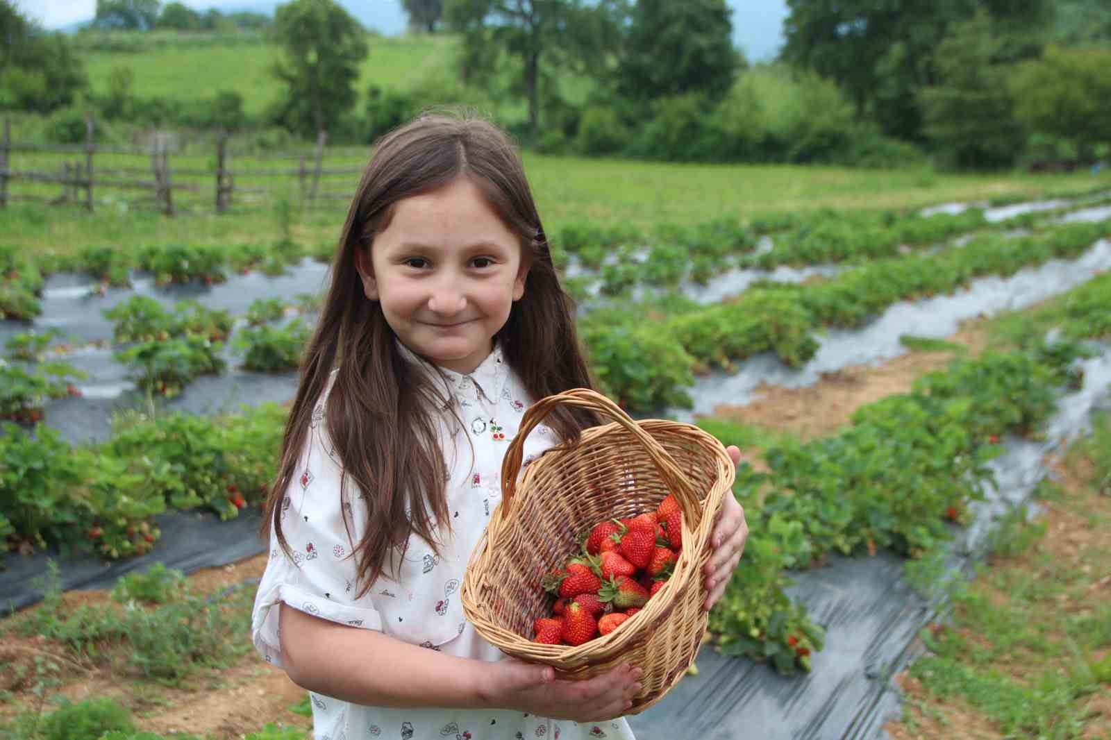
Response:
M540 130L542 101L557 98L554 70L597 69L615 46L614 2L602 0L448 0L444 16L463 34L464 82L494 77L500 58L520 63L519 91L529 132Z

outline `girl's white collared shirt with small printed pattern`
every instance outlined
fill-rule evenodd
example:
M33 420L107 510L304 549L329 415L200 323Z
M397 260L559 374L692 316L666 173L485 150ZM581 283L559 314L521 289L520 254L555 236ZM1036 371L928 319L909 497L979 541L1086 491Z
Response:
M414 372L426 372L442 388L440 432L448 466L447 501L454 537L439 539L442 558L418 536L397 573L383 574L356 599L353 542L366 531L367 507L358 496L340 500L342 468L324 423L324 400L336 373L313 408L298 472L281 502L282 532L289 558L270 531L270 561L254 598L251 637L269 663L281 666L278 604L341 624L379 630L431 650L483 661L507 656L474 631L463 616L459 590L471 551L501 501L501 462L532 402L520 379L496 347L476 370L461 374L422 360L400 342ZM463 428L452 417L453 408ZM471 456L473 444L474 454ZM524 446L526 462L559 440L540 424ZM348 481L349 492L354 483ZM341 506L352 522L343 524ZM441 532L437 530L437 533ZM368 656L373 660L373 657ZM391 667L390 670L397 670ZM553 720L510 710L364 707L310 692L316 740L633 740L624 718L595 723Z

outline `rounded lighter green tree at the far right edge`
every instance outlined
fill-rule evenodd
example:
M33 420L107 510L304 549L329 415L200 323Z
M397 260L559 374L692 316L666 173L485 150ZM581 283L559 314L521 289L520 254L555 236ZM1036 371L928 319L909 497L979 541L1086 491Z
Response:
M1080 160L1111 143L1111 50L1049 46L1023 62L1010 81L1014 113L1031 133L1071 142Z

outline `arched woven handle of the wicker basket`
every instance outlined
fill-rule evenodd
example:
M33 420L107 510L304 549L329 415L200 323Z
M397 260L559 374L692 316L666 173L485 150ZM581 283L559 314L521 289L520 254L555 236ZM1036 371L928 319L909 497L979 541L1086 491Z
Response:
M663 449L663 446L654 437L641 429L640 424L633 421L621 407L589 388L573 388L562 393L544 397L529 407L524 412L524 416L521 418L520 430L509 443L509 449L506 451L506 457L501 462L502 503L512 506L513 494L517 491L517 474L521 470L521 458L524 454L526 438L537 424L548 417L552 409L560 404L577 406L602 413L629 430L648 452L648 457L652 459L652 463L660 471L663 481L668 484L671 492L674 493L675 500L683 511L683 518L689 522L688 526L694 529L702 516L702 509L698 497L694 494L694 488L687 476L683 474L679 463L675 462L674 458Z

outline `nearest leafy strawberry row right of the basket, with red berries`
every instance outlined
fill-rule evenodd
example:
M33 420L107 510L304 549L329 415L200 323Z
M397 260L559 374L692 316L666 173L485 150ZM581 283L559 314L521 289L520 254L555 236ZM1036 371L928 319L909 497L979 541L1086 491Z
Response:
M1063 312L1067 337L1111 336L1111 279L1074 291ZM1037 437L1060 389L1081 381L1073 361L1087 354L1074 339L1030 338L1011 352L923 376L910 393L860 408L837 436L772 443L769 472L742 468L734 486L752 534L744 566L710 614L719 650L769 660L784 673L809 670L823 631L787 596L788 571L821 564L832 552L933 551L994 483L987 463L1002 451L1001 437ZM725 443L750 437L729 422L700 423Z

